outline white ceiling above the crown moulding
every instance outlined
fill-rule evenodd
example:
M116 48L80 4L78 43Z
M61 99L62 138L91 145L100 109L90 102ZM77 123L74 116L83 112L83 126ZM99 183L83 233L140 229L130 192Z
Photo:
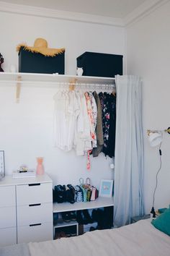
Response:
M4 0L11 4L44 7L104 17L124 18L146 0Z

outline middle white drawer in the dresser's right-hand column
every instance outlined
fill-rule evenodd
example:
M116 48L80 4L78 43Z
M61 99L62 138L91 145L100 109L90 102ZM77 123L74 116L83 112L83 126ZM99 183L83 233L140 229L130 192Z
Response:
M53 203L17 206L17 225L53 222Z

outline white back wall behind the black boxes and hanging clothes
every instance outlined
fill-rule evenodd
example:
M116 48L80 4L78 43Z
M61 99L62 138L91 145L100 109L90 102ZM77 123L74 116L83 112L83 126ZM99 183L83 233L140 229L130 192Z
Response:
M0 13L0 52L4 70L17 65L15 48L35 38L48 40L51 48L66 48L66 74L76 74L76 57L84 51L124 54L125 30L121 27L83 22ZM36 167L36 157L44 156L45 171L54 184L79 183L90 176L99 186L100 179L112 179L110 159L103 154L91 158L91 171L86 171L86 157L77 157L53 147L54 88L23 87L20 103L15 103L15 86L0 86L0 149L5 150L6 174L12 174L22 163Z

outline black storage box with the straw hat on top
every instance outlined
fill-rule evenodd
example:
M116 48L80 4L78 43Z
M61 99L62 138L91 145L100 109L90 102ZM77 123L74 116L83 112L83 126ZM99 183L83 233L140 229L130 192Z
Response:
M21 47L19 50L19 72L64 74L64 52L53 57L32 53Z

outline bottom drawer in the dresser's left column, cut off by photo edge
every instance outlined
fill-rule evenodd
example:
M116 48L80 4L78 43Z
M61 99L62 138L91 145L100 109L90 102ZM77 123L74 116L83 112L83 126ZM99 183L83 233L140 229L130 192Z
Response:
M0 246L17 244L16 228L0 229Z

